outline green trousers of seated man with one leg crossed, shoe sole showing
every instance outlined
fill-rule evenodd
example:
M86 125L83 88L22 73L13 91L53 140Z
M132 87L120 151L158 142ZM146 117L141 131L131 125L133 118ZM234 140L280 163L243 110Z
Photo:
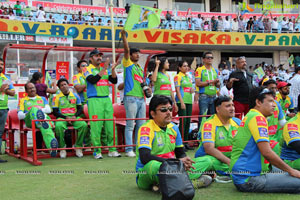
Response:
M36 113L37 113L38 110L39 110L38 108L32 107L32 108L30 109L30 111L26 114L26 117L25 117L24 121L25 121L25 124L26 124L26 126L27 126L28 128L32 128L32 126L31 126L31 121L37 119ZM45 113L44 113L44 114L45 114ZM48 115L45 114L45 116L46 116L46 119L51 119ZM52 140L53 138L55 138L55 135L54 135L54 133L53 133L53 131L52 131L52 127L53 127L52 122L47 122L47 123L48 123L48 125L49 125L49 128L47 128L47 129L44 129L44 128L40 125L39 122L36 123L36 127L39 128L39 129L41 130L41 133L42 133L42 136L43 136L43 140L44 140L44 142L45 142L45 145L46 145L47 149L50 149L50 148L51 148L51 146L50 146L51 140Z

